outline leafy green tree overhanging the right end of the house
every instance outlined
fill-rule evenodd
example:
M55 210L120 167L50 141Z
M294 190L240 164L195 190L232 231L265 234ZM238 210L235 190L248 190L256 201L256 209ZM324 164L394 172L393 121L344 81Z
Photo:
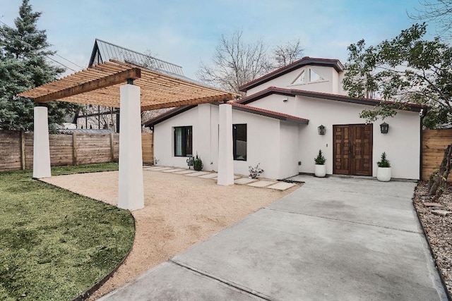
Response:
M381 106L360 114L367 122L394 116L408 103L432 106L436 117L452 116L452 47L439 37L427 41L425 24L415 24L393 39L365 48L364 40L348 47L344 89L350 97L364 97L371 91L383 100ZM435 116L427 113L432 125ZM439 119L436 119L439 121ZM449 164L451 152L445 152ZM441 172L442 171L442 172ZM432 175L430 195L443 188L450 168L440 166ZM435 188L436 187L436 188Z

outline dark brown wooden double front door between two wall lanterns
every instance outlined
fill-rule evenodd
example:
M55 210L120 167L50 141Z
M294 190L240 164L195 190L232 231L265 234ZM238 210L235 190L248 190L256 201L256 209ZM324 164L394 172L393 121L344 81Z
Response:
M372 176L372 125L333 125L333 173Z

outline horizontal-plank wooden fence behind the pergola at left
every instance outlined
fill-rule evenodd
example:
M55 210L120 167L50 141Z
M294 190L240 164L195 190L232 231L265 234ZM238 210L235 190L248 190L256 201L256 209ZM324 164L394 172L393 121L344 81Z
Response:
M153 134L142 133L143 163L153 163ZM119 134L49 135L52 166L118 161ZM0 171L33 167L33 133L0 130Z

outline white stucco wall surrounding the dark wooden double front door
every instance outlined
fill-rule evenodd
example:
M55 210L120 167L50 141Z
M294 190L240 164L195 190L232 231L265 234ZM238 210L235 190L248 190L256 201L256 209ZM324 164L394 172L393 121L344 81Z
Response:
M309 119L309 125L299 129L299 156L301 172L314 172L314 157L322 149L326 157L326 172L333 173L333 125L363 124L358 114L371 106L349 104L332 100L297 97L299 111ZM376 176L381 153L386 152L391 161L393 178L418 179L420 169L420 117L417 112L399 111L393 118L386 118L389 133L380 133L380 123L373 126L372 173ZM319 135L317 127L326 126L326 135Z

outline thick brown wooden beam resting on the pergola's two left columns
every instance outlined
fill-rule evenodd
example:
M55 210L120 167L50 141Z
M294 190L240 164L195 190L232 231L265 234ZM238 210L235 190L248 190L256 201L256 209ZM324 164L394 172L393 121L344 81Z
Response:
M94 91L94 90L97 90L100 88L117 85L122 82L126 82L126 80L128 80L129 78L131 78L133 80L141 78L141 69L140 68L131 68L129 70L121 71L119 73L107 75L103 78L98 78L96 80L84 82L84 83L82 83L80 85L76 85L74 87L69 87L64 90L59 90L57 92L45 94L40 97L36 97L35 102L37 102L37 103L52 102L53 100L61 99L64 97L70 97L73 95Z

